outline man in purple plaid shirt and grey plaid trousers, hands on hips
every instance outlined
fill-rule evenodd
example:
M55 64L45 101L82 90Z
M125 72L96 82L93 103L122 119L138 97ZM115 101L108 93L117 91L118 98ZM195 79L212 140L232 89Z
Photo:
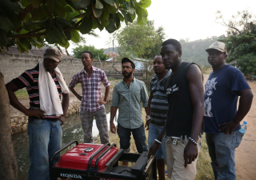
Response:
M82 53L82 64L84 69L78 74L74 74L74 77L70 82L70 90L80 101L82 101L80 118L82 129L84 131L84 142L93 142L92 126L95 117L101 143L105 144L109 142L109 134L107 130L104 104L106 104L110 92L110 82L108 82L103 70L92 66L93 61L94 56L90 51ZM82 86L82 96L74 90L74 86L78 83L81 83ZM102 83L106 87L104 100L101 99Z

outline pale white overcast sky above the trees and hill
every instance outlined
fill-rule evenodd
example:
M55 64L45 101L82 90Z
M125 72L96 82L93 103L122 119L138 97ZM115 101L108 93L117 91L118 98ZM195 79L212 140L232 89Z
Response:
M238 11L249 10L256 15L255 0L152 0L148 10L148 19L154 20L155 27L162 26L166 32L166 39L190 38L189 41L205 39L211 36L226 34L226 27L215 21L217 10L222 11L227 21ZM126 25L125 25L126 26ZM110 34L106 30L95 30L99 38L83 35L86 45L97 49L110 48L107 45ZM118 46L115 44L115 46ZM72 54L75 45L68 51Z

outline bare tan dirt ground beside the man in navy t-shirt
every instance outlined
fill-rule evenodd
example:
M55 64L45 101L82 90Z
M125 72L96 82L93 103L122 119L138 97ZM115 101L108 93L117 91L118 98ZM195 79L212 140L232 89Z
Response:
M204 74L204 82L208 77L209 74ZM248 122L246 134L235 150L235 169L238 180L256 179L256 82L248 83L254 94L254 100L249 113L242 120L242 122Z

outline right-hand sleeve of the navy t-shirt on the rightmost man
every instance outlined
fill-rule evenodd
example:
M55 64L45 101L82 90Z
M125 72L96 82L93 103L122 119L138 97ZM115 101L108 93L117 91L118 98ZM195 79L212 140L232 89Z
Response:
M246 78L244 78L242 72L238 70L238 72L235 72L234 74L232 74L232 85L231 85L232 94L238 95L236 91L246 90L246 89L250 89L250 86L246 82Z

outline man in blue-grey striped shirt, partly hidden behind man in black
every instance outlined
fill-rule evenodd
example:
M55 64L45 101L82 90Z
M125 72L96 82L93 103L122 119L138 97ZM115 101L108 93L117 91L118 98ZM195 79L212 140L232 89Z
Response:
M149 147L154 143L154 139L158 138L158 135L162 131L163 126L166 123L167 111L168 111L168 99L165 93L166 79L170 76L171 70L166 70L162 63L162 56L157 55L154 57L154 77L150 83L150 98L149 106L146 114L150 115L147 118L145 127L149 130L148 143ZM158 177L159 180L165 179L165 161L166 161L166 144L158 148L155 155L157 159Z

